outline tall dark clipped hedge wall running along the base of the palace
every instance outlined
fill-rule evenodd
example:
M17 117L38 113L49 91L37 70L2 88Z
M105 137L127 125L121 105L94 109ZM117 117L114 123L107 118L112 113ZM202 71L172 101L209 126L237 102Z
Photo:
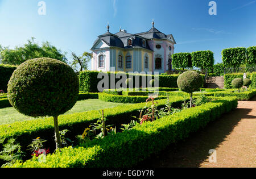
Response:
M102 79L98 79L98 73L96 71L89 71L86 70L84 72L81 72L79 75L79 81L80 81L80 91L88 92L88 93L97 93L98 92L98 82L100 82ZM116 73L115 73L116 74ZM109 75L109 89L110 89L110 72L108 72ZM141 74L132 74L133 77L139 76L140 84L137 88L142 86L142 75ZM150 76L150 75L147 75ZM129 77L129 74L126 73L126 77ZM159 87L168 87L168 88L178 88L177 86L177 78L179 77L179 74L172 74L172 75L159 75ZM201 75L203 80L205 81L205 76ZM152 75L152 78L154 79L154 75ZM115 84L120 79L115 79ZM149 82L149 81L148 81ZM136 86L134 85L134 88ZM144 86L143 86L144 87Z

